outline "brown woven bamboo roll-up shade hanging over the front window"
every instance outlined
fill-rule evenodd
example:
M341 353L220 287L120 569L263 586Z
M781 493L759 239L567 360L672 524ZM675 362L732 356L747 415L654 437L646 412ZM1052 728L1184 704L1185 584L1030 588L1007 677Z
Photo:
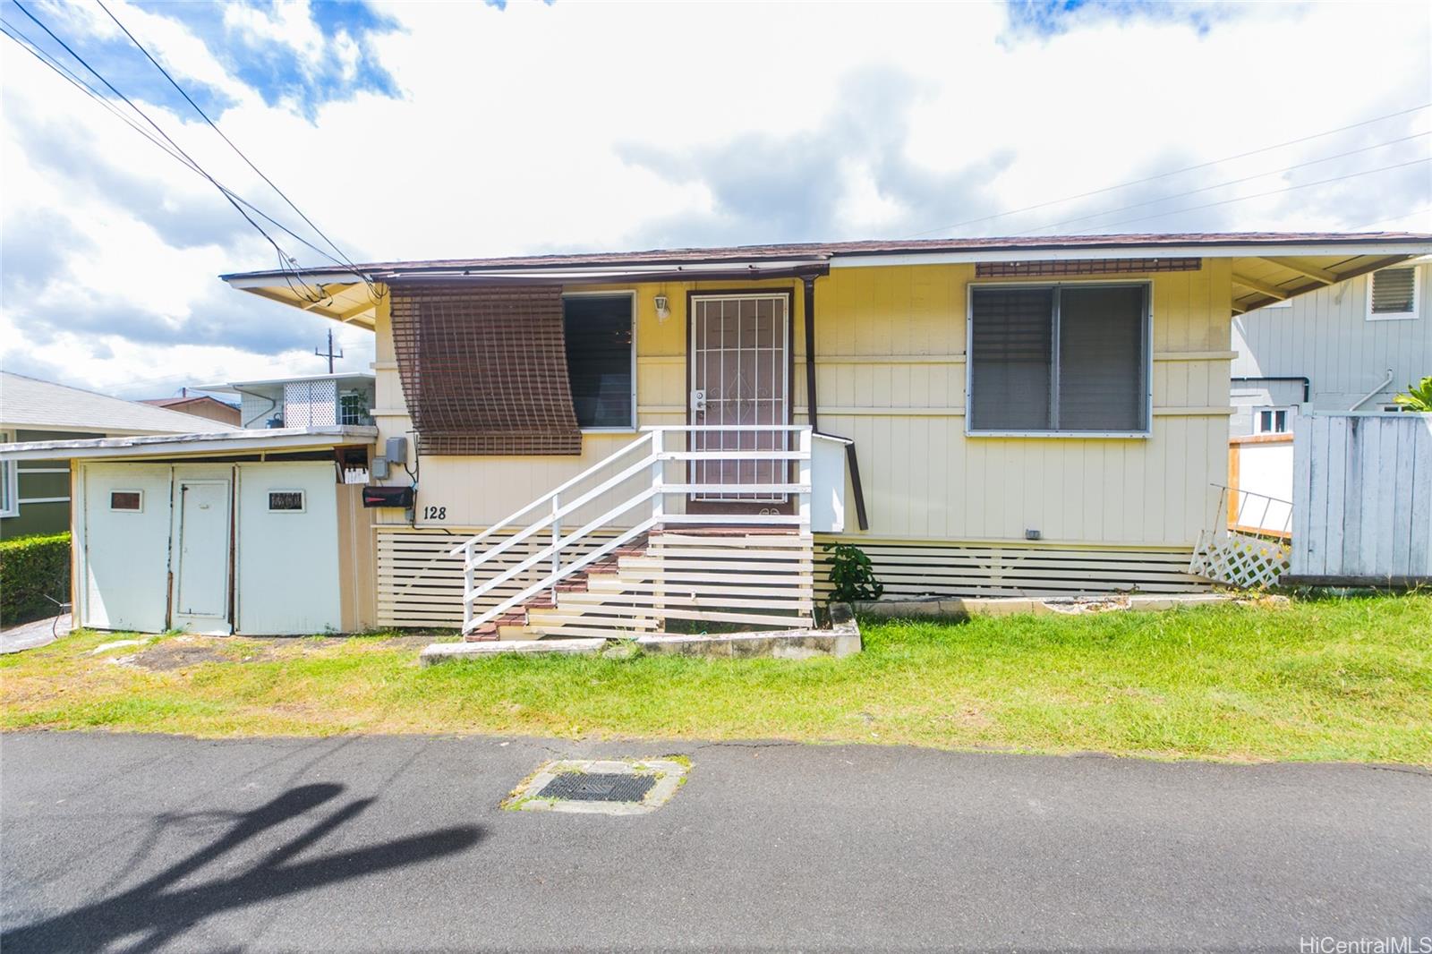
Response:
M560 286L392 285L391 294L418 453L581 453Z

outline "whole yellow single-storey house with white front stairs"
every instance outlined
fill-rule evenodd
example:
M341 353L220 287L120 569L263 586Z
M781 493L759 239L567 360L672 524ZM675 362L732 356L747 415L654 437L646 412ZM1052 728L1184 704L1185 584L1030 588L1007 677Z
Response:
M543 636L805 626L835 541L886 599L1201 589L1232 318L1428 252L1110 235L225 281L377 335L398 496L371 510L371 622Z

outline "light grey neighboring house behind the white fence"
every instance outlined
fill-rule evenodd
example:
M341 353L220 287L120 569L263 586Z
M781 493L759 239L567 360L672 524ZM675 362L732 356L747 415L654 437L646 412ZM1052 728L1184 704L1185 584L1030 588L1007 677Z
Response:
M1346 281L1300 265L1312 291L1233 319L1234 437L1290 434L1309 411L1396 411L1393 395L1432 374L1432 264Z

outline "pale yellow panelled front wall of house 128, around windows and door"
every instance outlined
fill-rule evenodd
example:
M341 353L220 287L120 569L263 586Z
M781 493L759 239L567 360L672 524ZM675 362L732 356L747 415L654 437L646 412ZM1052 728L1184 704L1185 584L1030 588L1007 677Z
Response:
M865 537L1008 541L1032 529L1050 541L1191 546L1213 484L1226 477L1229 274L1227 262L1210 259L1197 272L1127 276L1153 282L1154 417L1151 437L1118 440L965 435L972 265L846 268L818 279L819 423L856 441L871 519ZM686 292L753 286L795 288L790 395L795 420L805 420L800 284L667 282L636 286L640 424L686 420ZM664 322L656 294L670 301ZM377 325L379 441L411 430L385 304ZM580 458L424 457L417 524L487 526L636 437L587 434ZM428 506L444 507L445 519L425 519ZM378 520L402 516L382 511Z

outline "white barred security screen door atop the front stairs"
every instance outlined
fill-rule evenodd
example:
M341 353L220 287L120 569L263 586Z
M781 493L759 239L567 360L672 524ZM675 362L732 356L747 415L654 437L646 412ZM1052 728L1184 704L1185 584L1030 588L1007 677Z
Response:
M690 421L709 427L786 424L790 297L785 292L692 297ZM785 431L695 431L692 450L789 450ZM785 461L692 461L692 483L786 483ZM785 494L695 494L692 500L785 503Z

